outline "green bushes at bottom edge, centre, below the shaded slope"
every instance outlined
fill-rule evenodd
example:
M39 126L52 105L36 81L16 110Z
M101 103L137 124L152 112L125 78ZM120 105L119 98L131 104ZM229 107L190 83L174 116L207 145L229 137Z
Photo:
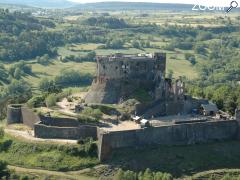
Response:
M162 172L152 172L150 169L146 169L144 172L135 173L133 171L118 170L115 180L172 180L171 174Z

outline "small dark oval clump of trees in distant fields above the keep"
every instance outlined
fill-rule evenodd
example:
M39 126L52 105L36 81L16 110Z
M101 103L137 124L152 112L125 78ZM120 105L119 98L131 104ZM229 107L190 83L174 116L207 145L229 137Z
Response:
M114 17L90 17L84 21L84 24L89 26L102 26L110 29L127 28L129 25L123 20Z

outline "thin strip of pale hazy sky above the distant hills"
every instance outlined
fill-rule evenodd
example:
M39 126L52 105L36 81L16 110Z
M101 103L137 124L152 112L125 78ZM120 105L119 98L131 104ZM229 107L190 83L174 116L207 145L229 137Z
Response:
M213 6L229 6L232 0L69 0L78 3L92 3L103 1L127 1L127 2L158 2L158 3L184 3L184 4L205 4ZM240 4L240 0L237 0Z

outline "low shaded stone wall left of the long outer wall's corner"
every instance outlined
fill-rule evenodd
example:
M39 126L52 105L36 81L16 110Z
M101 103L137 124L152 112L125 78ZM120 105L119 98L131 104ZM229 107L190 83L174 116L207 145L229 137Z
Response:
M47 126L41 123L34 125L34 133L37 138L44 139L85 139L92 137L97 140L96 126L79 126L79 127L57 127Z

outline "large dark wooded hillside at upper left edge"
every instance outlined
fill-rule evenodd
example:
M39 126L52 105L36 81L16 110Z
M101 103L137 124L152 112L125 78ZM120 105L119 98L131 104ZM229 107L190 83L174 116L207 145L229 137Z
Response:
M0 10L0 60L9 62L43 54L56 55L55 47L63 44L63 35L44 31L46 26L54 25L27 13Z

